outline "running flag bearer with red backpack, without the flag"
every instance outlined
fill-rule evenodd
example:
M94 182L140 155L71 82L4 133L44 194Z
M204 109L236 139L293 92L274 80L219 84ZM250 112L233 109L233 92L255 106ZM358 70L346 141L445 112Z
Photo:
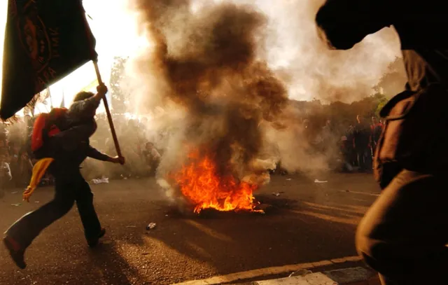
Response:
M14 262L22 269L27 266L24 259L25 250L34 238L48 225L68 213L75 202L89 246L96 246L106 232L99 223L93 205L92 191L80 174L79 165L87 157L122 165L125 160L100 153L89 144L88 137L93 134L92 130L96 129L94 111L107 88L105 85L99 85L97 90L96 95L88 92L76 95L74 107L69 110L68 116L61 118L63 121L61 125L67 124L69 128L59 132L57 137L45 139L44 144L48 145L44 147L49 150L48 157L36 163L30 186L24 193L24 200L29 200L38 180L48 169L55 177L55 197L43 207L22 216L5 233L3 243ZM71 125L73 123L75 125ZM71 144L64 145L68 141L71 141Z

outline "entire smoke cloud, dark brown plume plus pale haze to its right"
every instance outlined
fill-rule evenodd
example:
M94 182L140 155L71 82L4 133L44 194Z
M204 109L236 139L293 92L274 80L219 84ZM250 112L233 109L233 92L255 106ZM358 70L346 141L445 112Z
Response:
M132 2L151 46L129 64L129 86L135 111L151 112L150 131L165 149L160 176L193 148L239 179L265 179L262 169L280 160L288 170L326 167L308 151L288 97L362 99L399 55L399 42L384 29L348 52L328 50L314 23L322 3Z

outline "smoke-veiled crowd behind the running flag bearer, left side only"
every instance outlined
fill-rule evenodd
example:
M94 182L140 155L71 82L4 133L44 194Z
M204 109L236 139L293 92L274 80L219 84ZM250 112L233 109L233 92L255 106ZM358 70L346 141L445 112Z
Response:
M125 116L113 118L123 155L127 158L125 167L105 164L87 158L81 171L88 181L104 177L130 178L144 177L155 174L160 162L161 151L148 140L145 130L147 121L127 119ZM34 118L25 116L10 123L0 123L0 195L1 189L25 188L31 179L34 160L31 152L31 133ZM90 139L90 144L99 151L116 155L109 123L106 116L98 116L97 132ZM45 174L41 185L53 183L50 174Z

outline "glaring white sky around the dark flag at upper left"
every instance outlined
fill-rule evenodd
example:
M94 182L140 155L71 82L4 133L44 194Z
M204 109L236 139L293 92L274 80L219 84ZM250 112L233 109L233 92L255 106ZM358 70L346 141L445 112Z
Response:
M97 39L99 69L102 80L109 84L113 57L129 56L141 46L142 38L137 35L137 23L127 9L126 0L84 0L83 1L90 28ZM8 1L0 1L0 66L3 67L3 39L6 25ZM0 68L0 78L1 78ZM52 104L59 106L64 95L66 106L80 90L94 91L96 74L92 62L88 62L66 78L50 86ZM94 83L94 84L92 84ZM1 82L0 82L1 90ZM50 104L50 100L48 100ZM40 107L45 111L43 106ZM38 111L38 110L36 110ZM99 109L101 110L101 107Z

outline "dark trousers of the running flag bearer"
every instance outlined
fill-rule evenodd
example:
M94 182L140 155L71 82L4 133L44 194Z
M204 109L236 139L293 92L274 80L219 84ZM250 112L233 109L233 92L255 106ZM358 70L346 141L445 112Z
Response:
M26 248L44 228L67 214L75 202L86 239L97 237L101 225L93 206L93 194L89 184L79 171L70 175L55 174L55 197L53 200L36 211L22 216L6 231L6 235Z

